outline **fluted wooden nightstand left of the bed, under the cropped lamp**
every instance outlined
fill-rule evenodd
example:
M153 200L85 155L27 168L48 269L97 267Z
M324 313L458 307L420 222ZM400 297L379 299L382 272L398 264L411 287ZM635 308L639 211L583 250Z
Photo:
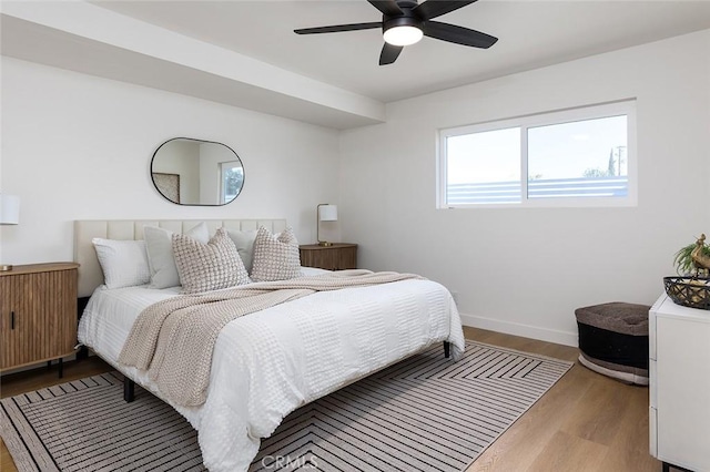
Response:
M30 264L0 273L0 371L59 359L77 345L74 263Z

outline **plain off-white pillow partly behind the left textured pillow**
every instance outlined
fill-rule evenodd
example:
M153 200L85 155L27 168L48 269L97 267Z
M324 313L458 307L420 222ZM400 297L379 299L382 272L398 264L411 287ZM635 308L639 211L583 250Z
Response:
M210 240L207 225L202 222L185 233L202 244ZM180 285L180 276L173 255L173 232L156 226L144 226L143 237L148 252L151 288L169 288Z

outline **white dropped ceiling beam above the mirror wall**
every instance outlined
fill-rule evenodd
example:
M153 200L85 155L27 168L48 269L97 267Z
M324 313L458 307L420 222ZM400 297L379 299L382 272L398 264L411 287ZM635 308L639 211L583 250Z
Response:
M3 2L2 54L317 125L385 121L385 105L85 2Z

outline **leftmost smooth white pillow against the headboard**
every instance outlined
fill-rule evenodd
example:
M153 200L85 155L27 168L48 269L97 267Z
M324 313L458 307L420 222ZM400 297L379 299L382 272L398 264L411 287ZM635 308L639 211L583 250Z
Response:
M148 284L151 273L144 240L91 239L109 288Z

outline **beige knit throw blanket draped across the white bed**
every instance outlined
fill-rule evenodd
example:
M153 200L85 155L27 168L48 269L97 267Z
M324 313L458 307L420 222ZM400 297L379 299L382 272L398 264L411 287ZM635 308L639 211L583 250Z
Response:
M129 335L119 362L148 371L161 394L175 404L204 403L212 352L222 328L235 318L315 291L367 287L422 277L354 269L314 277L251 284L205 295L183 295L145 308Z

